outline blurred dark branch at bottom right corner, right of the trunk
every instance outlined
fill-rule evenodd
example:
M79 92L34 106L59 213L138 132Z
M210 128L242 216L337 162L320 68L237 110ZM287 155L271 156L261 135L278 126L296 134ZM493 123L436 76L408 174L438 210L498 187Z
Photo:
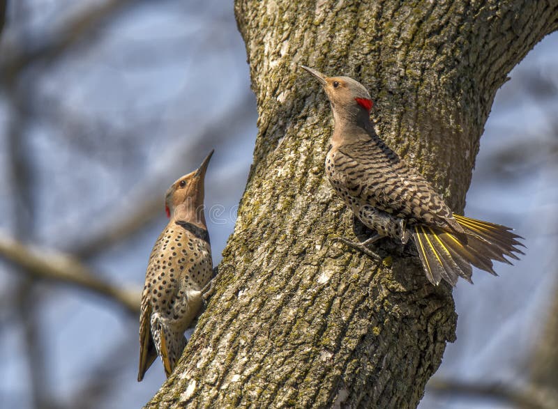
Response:
M513 403L522 409L558 408L557 396L548 389L538 387L516 387L505 383L474 383L461 380L433 378L428 390L434 394L469 398L484 397Z

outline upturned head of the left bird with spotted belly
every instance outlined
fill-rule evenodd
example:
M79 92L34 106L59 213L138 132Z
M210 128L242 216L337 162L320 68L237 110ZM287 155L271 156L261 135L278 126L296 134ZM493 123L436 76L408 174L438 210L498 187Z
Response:
M165 195L167 217L205 225L204 217L204 179L213 151L207 155L192 173L176 180Z

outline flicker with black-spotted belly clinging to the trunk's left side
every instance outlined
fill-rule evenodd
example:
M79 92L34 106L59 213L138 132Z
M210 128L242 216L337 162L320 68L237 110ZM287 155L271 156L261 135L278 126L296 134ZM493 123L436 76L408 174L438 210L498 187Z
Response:
M157 355L167 378L186 346L184 331L197 318L212 276L204 216L204 178L213 151L201 166L174 182L165 196L169 223L153 246L140 314L141 381Z

